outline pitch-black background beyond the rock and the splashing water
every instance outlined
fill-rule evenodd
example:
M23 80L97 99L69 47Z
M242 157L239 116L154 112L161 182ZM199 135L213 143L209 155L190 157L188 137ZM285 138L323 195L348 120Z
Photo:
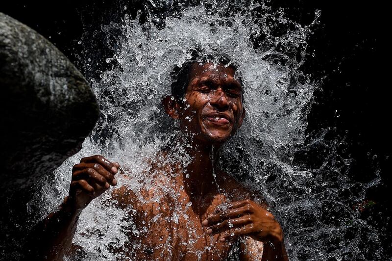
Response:
M127 10L124 10L127 5ZM387 8L381 2L360 4L347 0L277 0L274 8L286 8L287 16L302 25L314 19L321 10L320 26L309 40L303 70L320 79L321 89L315 92L316 104L308 116L309 130L330 127L335 135L345 137L347 150L354 163L349 176L368 182L379 171L382 183L368 189L366 199L375 205L366 209L366 216L376 227L387 227L382 238L385 254L391 253L391 189L390 152L390 53L386 49ZM86 76L96 77L96 69L107 69L105 58L113 50L107 48L100 25L120 22L123 14L134 18L141 1L19 1L0 3L0 12L12 16L49 39ZM86 48L88 47L88 48ZM86 53L84 50L94 50ZM86 65L87 57L95 57L98 65ZM89 69L91 68L91 69ZM382 215L378 213L382 212Z

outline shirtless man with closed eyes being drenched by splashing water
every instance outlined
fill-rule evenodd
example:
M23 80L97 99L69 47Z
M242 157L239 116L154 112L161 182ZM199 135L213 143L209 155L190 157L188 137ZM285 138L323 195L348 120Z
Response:
M260 195L214 169L219 148L245 116L235 70L223 64L190 63L179 77L183 88L173 84L172 96L163 99L166 113L186 133L181 142L190 145L186 151L191 161L185 168L182 162L152 166L154 186L137 192L143 202L126 186L113 190L113 202L136 210L135 224L146 228L139 236L130 233L129 242L116 250L124 260L225 260L233 246L238 246L240 260L288 260L282 229ZM161 156L170 157L170 148ZM34 255L62 260L70 252L81 211L116 186L119 167L99 155L73 166L69 196L35 230L40 253ZM163 187L175 193L169 195Z

